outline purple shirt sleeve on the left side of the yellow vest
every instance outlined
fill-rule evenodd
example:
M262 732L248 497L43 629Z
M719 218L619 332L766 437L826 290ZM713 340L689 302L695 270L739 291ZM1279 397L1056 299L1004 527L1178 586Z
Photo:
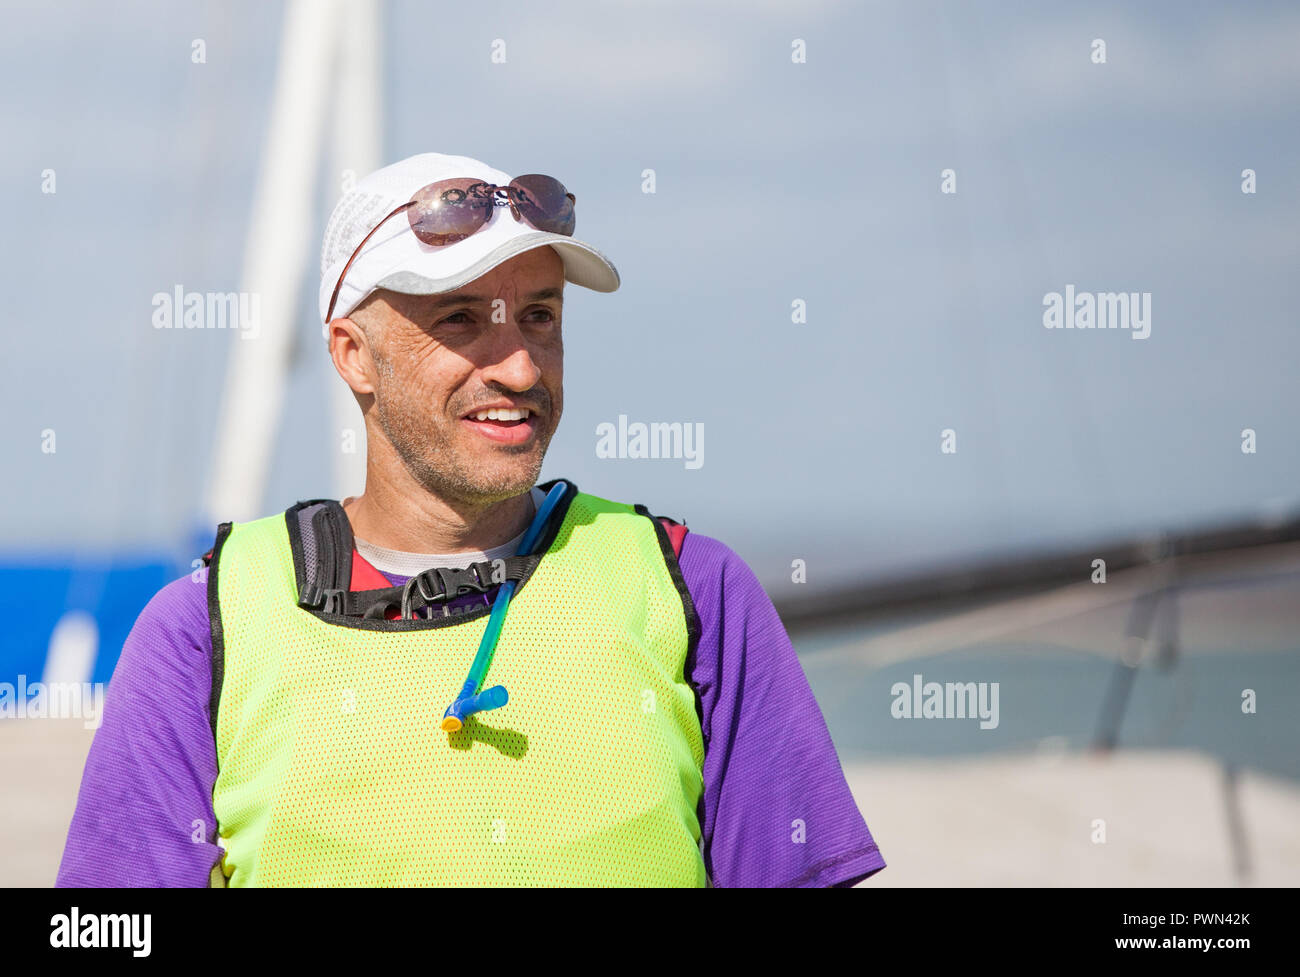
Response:
M122 646L86 759L58 887L207 886L221 857L207 568L160 590Z

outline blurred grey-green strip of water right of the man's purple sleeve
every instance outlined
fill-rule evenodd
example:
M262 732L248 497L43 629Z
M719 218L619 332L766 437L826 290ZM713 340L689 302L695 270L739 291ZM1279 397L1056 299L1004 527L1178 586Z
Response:
M796 635L803 669L844 761L972 756L1040 748L1084 750L1096 737L1113 660L1049 643L976 646L887 664L845 661L832 650L854 641L845 628ZM998 724L978 718L894 718L890 689L926 682L996 682ZM1243 690L1256 712L1243 712ZM1119 725L1118 746L1199 750L1300 781L1300 647L1183 655L1171 668L1143 664Z

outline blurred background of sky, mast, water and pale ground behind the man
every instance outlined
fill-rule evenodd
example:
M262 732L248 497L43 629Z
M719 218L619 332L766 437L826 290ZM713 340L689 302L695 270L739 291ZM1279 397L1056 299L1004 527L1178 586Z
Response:
M1294 4L3 13L0 885L53 882L94 735L22 687L108 682L218 521L363 488L320 242L429 151L577 195L623 287L567 290L542 478L754 569L866 886L1300 883ZM1149 336L1044 329L1066 286ZM159 327L178 290L260 331ZM620 414L703 464L598 457ZM915 676L996 728L897 718Z

